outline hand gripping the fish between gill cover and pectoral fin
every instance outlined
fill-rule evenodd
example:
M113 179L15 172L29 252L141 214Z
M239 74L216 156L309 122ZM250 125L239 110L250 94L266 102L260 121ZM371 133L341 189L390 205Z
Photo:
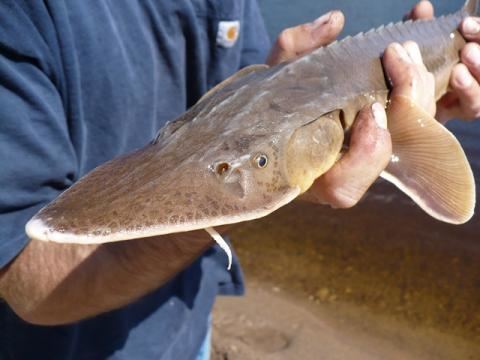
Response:
M383 65L393 85L392 107L401 96L435 114L435 80L416 43L390 45ZM352 127L349 150L315 182L305 198L337 208L354 206L390 161L392 143L386 125L383 106L364 108Z

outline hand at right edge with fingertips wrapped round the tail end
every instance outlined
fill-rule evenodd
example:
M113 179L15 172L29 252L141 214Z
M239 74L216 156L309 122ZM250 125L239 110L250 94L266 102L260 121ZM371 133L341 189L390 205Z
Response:
M414 20L433 16L433 5L427 0L420 1L409 14ZM450 91L437 103L436 119L442 123L480 117L480 18L465 19L459 30L468 43L461 51L461 63L452 70Z

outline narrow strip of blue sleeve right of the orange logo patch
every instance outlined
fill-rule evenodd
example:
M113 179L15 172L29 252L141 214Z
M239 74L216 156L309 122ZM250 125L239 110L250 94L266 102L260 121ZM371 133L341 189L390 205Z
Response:
M245 0L240 66L264 64L271 42L257 0Z

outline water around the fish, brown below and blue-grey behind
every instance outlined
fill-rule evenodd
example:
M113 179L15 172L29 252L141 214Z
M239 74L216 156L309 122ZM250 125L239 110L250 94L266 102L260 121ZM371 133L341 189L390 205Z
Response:
M272 37L329 9L346 13L353 34L399 19L415 1L259 0ZM378 5L373 6L372 4ZM437 13L463 1L436 1ZM480 121L452 121L480 187ZM232 237L247 278L304 296L337 318L353 316L398 346L435 348L405 331L448 337L425 359L480 358L480 209L466 225L440 223L379 181L351 210L295 203L237 229ZM238 240L236 240L238 239ZM405 330L405 328L407 330ZM402 330L403 329L403 330ZM318 336L322 336L319 334ZM432 345L433 344L433 345ZM423 351L422 350L422 351ZM442 355L443 354L443 355ZM468 355L467 355L468 354Z

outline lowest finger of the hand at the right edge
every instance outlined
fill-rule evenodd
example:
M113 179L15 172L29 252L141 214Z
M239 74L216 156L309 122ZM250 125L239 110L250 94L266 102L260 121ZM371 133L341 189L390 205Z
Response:
M450 86L456 93L459 102L459 113L462 119L480 117L480 85L464 64L458 64L452 71ZM453 115L453 114L452 114Z

